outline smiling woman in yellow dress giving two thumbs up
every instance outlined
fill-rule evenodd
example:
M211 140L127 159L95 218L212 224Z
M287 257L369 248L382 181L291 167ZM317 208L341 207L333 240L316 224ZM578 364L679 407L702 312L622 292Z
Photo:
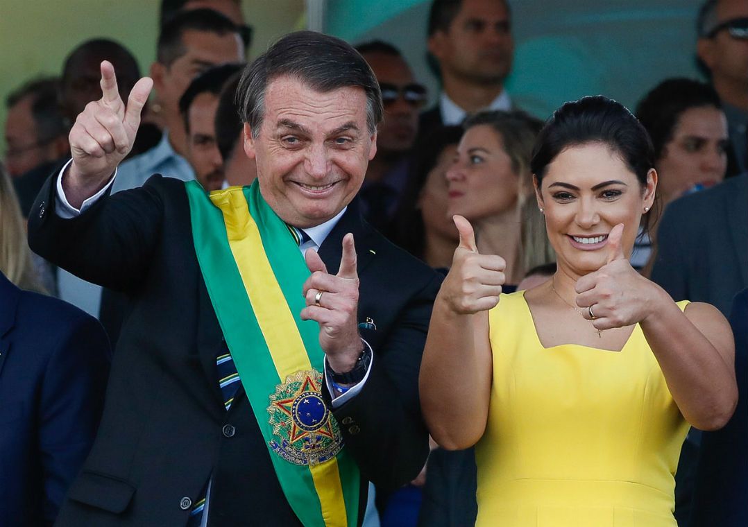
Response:
M478 526L675 527L688 425L720 428L735 409L727 321L628 262L654 201L652 158L617 102L556 111L531 169L558 268L526 292L501 295L506 262L479 254L455 217L420 396L440 446L476 446Z

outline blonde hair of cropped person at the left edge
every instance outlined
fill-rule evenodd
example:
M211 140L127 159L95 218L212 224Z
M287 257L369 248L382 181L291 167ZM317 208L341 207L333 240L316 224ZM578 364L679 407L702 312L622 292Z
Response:
M0 271L21 289L45 292L31 261L16 191L3 164L0 164Z

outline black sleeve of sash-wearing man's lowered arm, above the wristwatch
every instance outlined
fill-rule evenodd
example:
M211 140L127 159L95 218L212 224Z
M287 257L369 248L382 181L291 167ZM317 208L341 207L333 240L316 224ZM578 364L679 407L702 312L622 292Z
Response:
M393 489L411 481L429 454L428 431L418 402L418 372L433 301L441 283L434 274L399 313L361 392L334 410L346 448L364 478Z

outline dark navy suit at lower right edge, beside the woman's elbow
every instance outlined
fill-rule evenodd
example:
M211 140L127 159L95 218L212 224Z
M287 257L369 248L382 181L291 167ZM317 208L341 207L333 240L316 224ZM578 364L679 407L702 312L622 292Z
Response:
M730 313L738 407L724 428L704 432L690 527L748 525L748 289Z

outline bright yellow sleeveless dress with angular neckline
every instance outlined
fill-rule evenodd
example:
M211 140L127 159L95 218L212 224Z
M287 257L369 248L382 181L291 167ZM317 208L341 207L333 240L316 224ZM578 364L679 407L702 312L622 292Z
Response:
M619 352L543 348L522 291L501 295L488 318L494 378L476 445L476 526L677 527L673 476L688 425L639 325Z

